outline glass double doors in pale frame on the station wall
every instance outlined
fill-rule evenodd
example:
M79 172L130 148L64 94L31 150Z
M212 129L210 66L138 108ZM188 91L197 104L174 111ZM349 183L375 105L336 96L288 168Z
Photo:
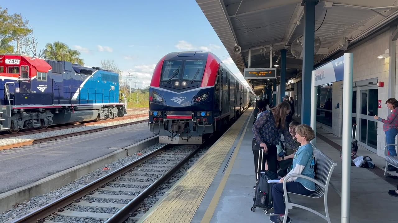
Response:
M359 120L358 142L368 150L377 153L377 87L365 87L357 91L359 93ZM354 113L354 112L353 112Z

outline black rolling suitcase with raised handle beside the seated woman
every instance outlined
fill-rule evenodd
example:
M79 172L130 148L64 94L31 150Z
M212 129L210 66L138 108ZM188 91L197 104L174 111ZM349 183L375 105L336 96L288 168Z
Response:
M277 179L277 175L271 171L264 171L263 167L263 150L258 151L258 165L256 174L256 192L254 195L254 204L251 208L252 211L256 211L256 207L263 208L263 213L268 213L268 210L273 208L272 204L272 190L271 184L268 180ZM260 165L261 162L261 165ZM273 178L272 178L273 177Z

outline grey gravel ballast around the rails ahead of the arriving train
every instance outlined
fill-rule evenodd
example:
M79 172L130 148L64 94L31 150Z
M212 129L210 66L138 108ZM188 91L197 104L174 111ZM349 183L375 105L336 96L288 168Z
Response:
M145 148L144 150L141 150L137 152L137 154L142 154L138 156L137 154L133 154L131 156L121 158L113 163L110 163L108 165L105 165L104 167L107 167L109 169L103 170L104 167L101 167L97 169L96 171L93 171L92 173L89 173L88 175L85 175L84 177L80 177L79 179L73 181L72 183L69 183L66 186L63 186L62 188L55 190L53 192L43 194L41 196L35 196L31 198L29 201L22 202L20 204L17 204L13 210L9 210L7 212L4 212L0 214L0 223L4 223L5 221L8 221L9 219L15 219L18 217L21 217L25 214L28 213L29 210L32 208L39 208L41 206L44 206L45 204L51 202L53 199L60 198L61 196L64 196L68 194L69 192L76 190L77 188L86 185L87 183L90 183L99 177L110 173L111 171L114 171L115 169L126 165L127 163L136 160L137 158L140 158L141 156L144 156L145 154L148 154L149 152L152 152L154 149L159 148L164 144L155 144L154 146L150 146L148 148ZM187 154L191 152L195 146L193 145L183 145L183 146L176 146L172 148L171 150L181 152L184 154ZM195 154L187 163L185 163L176 173L170 177L168 181L160 185L158 190L146 198L143 202L143 204L140 206L140 208L135 212L137 214L144 214L146 211L148 211L156 202L166 193L166 191L171 188L176 181L180 179L184 175L184 173L189 169L208 149L210 148L210 145L205 146L197 154ZM172 153L171 151L166 151L166 153ZM171 154L168 154L167 156L170 156ZM151 167L159 167L163 168L162 163L164 164L176 164L176 162L180 161L183 157L181 158L162 158L164 157L164 154L157 156L156 158L152 158L150 161L147 161L143 164L140 164L138 167L135 167L131 171L125 173L123 177L119 177L116 179L117 181L136 181L136 182L154 182L160 175L157 174L152 174L150 173ZM149 164L151 163L151 164ZM156 165L154 165L156 164ZM140 169L145 167L148 169ZM149 167L150 166L150 167ZM136 173L139 171L140 173ZM155 172L166 172L158 169L153 169ZM146 173L148 172L148 173ZM147 179L135 179L133 180L134 176L145 176L148 177ZM130 178L130 179L127 179ZM146 186L135 186L135 185L125 185L121 182L115 183L115 182L109 182L107 187L120 187L120 188L146 188ZM143 189L142 189L143 190ZM106 194L106 195L127 195L127 196L137 196L139 192L128 192L128 191L112 191L112 190L104 190L103 188L99 188L99 190L96 190L94 192L97 196L98 194ZM82 198L82 201L85 202L101 202L101 203L114 203L114 204L127 204L130 202L129 199L111 199L111 198L96 198L92 197L90 195L84 196ZM118 208L113 208L113 207L106 207L106 208L100 208L100 207L87 207L87 206L80 206L77 204L74 205L69 205L64 208L64 210L70 210L70 211L85 211L85 212L95 212L95 213L109 213L109 214L114 214L119 210ZM54 216L49 216L46 218L47 220L50 221L58 221L58 222L84 222L84 223L91 223L91 222L105 222L106 219L99 219L99 218L94 218L94 217L84 217L84 218L79 218L79 217L66 217L62 215L54 215ZM137 219L127 219L125 222L136 222Z

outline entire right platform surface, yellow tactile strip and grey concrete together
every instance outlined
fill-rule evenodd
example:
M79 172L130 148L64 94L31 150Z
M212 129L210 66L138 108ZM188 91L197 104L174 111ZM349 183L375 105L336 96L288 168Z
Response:
M203 166L199 165L199 160L191 167L190 172L181 177L180 181L168 191L167 196L159 200L138 223L168 223L176 222L177 219L179 223L270 222L269 214L263 214L261 208L257 208L256 212L250 210L253 205L253 186L255 185L254 159L251 149L253 137L252 111L252 108L250 108L247 112L250 113L250 117L245 113L241 117L245 120L238 120L234 124L235 126L239 125L234 135L228 134L228 136L225 134L232 141L226 156L223 156L222 161L217 161L222 165L214 165L216 161L209 161L206 169L203 169ZM341 162L339 151L336 149L338 143L341 143L341 138L318 129L316 146L338 163L333 172L331 187L328 192L328 206L332 222L340 222ZM215 152L217 149L219 149L219 146L213 146L207 153L211 154L212 150ZM358 154L367 155L367 150L365 150L359 148ZM381 157L373 154L371 158L379 168L383 166ZM195 177L192 174L195 172L204 173L202 175L197 174ZM216 173L215 177L211 179L211 183L206 183L206 173L213 172ZM388 195L388 190L396 188L398 180L387 182L378 172L375 169L351 167L351 223L396 222L398 199ZM194 182L198 183L195 184ZM199 192L199 190L202 191L202 187L205 189L205 193ZM298 203L324 213L322 211L324 207L323 198L306 199L302 196L291 196L292 201L297 201L294 200L295 198L300 199ZM181 202L185 202L184 205L181 205ZM272 213L273 210L269 212ZM167 213L167 216L165 213ZM294 223L326 222L321 217L299 208L291 210L289 216Z

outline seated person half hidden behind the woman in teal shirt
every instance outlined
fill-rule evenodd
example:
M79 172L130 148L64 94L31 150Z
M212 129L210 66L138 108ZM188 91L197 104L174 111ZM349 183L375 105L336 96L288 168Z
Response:
M298 121L292 121L289 124L289 133L293 138L293 142L296 144L295 148L289 148L291 146L289 146L289 144L286 144L286 155L285 157L280 157L278 156L278 163L279 163L279 167L281 167L281 170L278 171L278 176L280 177L285 177L287 174L287 169L293 165L293 157L297 151L298 146L300 146L300 142L297 142L296 139L296 127L300 125L300 123L298 123ZM289 146L289 147L288 147Z

